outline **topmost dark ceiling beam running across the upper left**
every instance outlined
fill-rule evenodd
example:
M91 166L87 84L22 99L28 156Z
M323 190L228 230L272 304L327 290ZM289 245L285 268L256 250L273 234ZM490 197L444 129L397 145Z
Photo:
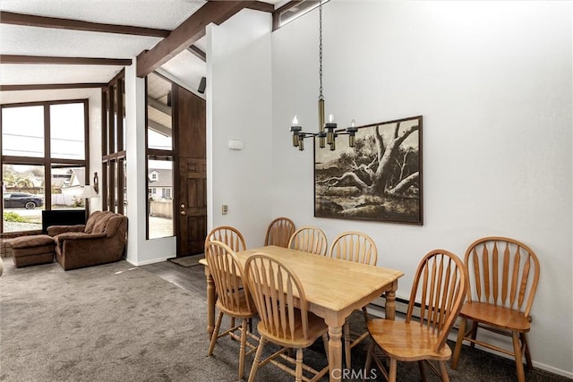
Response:
M124 35L166 38L170 30L133 27L131 25L102 24L99 22L59 19L31 14L0 12L0 23L26 27L55 28L58 30L84 30L89 32L117 33Z

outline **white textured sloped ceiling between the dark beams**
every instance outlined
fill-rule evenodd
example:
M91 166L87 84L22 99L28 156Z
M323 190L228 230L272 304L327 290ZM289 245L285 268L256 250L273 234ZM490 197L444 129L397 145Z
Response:
M51 18L90 21L174 30L196 12L205 1L116 0L116 1L0 1L0 10ZM133 59L154 47L161 38L100 33L82 30L38 28L0 23L0 54L55 57L94 57ZM182 82L195 83L205 75L205 63L188 52L175 57L162 69L183 76ZM168 69L167 69L168 68ZM85 64L3 64L1 85L40 85L69 83L107 83L123 66ZM54 94L53 96L51 94ZM0 103L42 99L85 98L93 89L67 91L2 91ZM56 98L63 97L63 98Z

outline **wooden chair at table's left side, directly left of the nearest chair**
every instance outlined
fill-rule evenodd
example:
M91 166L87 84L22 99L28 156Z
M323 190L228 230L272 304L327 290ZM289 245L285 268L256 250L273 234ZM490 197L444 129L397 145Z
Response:
M205 244L205 259L217 291L218 318L215 323L209 345L209 356L213 355L217 340L226 335L238 340L239 349L239 379L244 375L244 358L256 350L256 345L247 341L247 336L258 341L258 337L248 331L248 321L257 315L254 303L247 287L241 284L244 279L243 269L238 263L235 252L223 242L207 242ZM233 319L233 324L225 332L219 333L223 315ZM241 325L235 326L235 318L241 319ZM236 335L236 331L241 336ZM246 352L246 347L251 349Z

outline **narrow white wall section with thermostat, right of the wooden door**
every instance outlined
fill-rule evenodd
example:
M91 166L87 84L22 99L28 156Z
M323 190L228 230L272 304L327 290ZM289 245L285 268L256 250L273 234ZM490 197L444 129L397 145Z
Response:
M208 230L235 226L248 247L272 220L270 30L269 13L251 10L207 30Z

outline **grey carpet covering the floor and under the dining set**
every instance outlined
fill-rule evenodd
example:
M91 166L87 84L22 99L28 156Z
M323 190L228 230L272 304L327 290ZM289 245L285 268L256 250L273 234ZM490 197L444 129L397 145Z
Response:
M220 339L214 356L206 355L204 294L185 291L125 261L68 272L56 263L17 269L5 259L4 265L0 381L238 379L235 341ZM351 319L363 325L360 313ZM360 346L353 352L355 369L363 367L367 344ZM322 349L319 340L304 353L305 361L316 368L325 365ZM252 357L245 361L245 376L251 362ZM427 375L429 381L439 380ZM452 381L517 380L511 361L466 346L458 370L449 369L449 376ZM526 379L570 381L539 369L526 371ZM267 365L257 380L293 378ZM420 380L417 365L398 362L398 380Z

